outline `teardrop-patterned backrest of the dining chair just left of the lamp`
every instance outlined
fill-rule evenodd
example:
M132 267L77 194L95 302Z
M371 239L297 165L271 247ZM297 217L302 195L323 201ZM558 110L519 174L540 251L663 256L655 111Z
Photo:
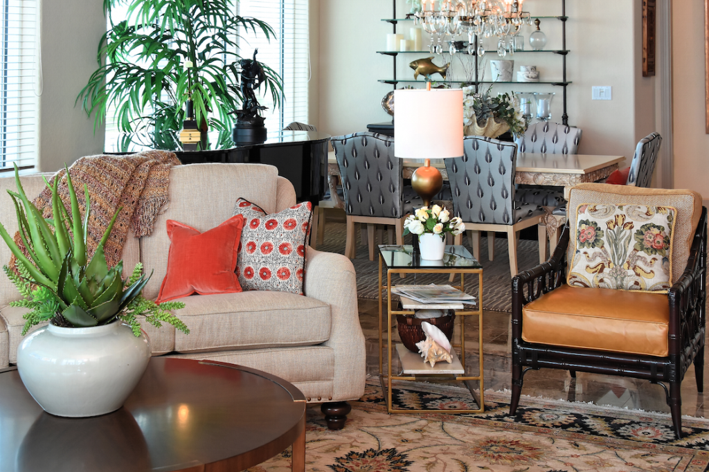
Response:
M330 139L340 169L347 215L403 217L403 162L391 136L369 133Z

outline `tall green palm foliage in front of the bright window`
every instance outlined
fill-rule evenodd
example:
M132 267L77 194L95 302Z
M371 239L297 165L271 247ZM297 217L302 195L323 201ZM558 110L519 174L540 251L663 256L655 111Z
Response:
M95 113L94 130L109 105L117 108L125 133L179 130L191 98L200 127L230 131L235 118L229 113L242 101L240 28L269 40L275 35L267 23L238 16L235 1L104 0L111 28L99 43L99 69L77 97L87 115ZM112 7L121 4L128 6L128 18L114 23ZM262 66L266 90L278 105L281 77Z

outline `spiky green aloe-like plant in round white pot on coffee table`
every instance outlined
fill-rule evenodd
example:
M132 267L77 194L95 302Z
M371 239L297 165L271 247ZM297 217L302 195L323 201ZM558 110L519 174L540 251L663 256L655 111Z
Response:
M150 344L138 317L160 327L167 322L183 332L184 323L169 310L181 302L157 305L143 298L150 276L142 264L123 279L123 262L108 268L104 245L121 208L89 259L86 234L90 201L84 188L84 218L67 169L71 210L62 202L55 179L52 216L45 219L29 201L15 166L17 192L9 191L16 208L19 236L25 251L0 223L0 237L17 259L18 274L5 273L22 300L11 303L28 308L23 335L42 322L18 348L17 367L29 393L46 411L59 416L103 415L121 408L135 388L150 359ZM45 180L46 181L46 180ZM49 186L49 182L46 181Z

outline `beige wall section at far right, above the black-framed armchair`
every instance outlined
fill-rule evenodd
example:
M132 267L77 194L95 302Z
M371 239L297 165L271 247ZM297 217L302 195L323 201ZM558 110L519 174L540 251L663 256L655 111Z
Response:
M674 186L709 198L705 133L704 2L672 4Z

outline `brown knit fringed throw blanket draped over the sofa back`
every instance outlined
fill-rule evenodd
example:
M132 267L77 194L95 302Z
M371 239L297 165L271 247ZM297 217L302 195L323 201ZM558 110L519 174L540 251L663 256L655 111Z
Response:
M118 208L123 207L123 210L118 214L111 236L104 247L109 267L115 266L121 260L129 228L138 237L152 233L160 207L167 203L170 168L179 164L179 159L173 152L150 150L125 156L101 154L82 157L69 167L82 219L86 211L84 185L89 190L91 210L86 235L89 259L96 252L96 247ZM67 209L70 209L65 169L57 172L50 183L53 184L55 179L61 179L59 195ZM45 188L33 203L43 212L45 218L52 218L51 189ZM15 235L15 241L23 252L26 252L19 232ZM10 267L14 269L15 263L13 256ZM133 268L129 267L128 270L130 269Z

